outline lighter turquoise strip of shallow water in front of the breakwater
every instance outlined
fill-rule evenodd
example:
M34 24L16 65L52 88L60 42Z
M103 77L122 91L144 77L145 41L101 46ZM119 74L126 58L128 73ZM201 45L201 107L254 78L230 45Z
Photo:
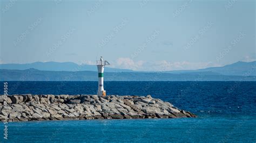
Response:
M9 141L255 142L255 125L253 117L31 121L11 123Z

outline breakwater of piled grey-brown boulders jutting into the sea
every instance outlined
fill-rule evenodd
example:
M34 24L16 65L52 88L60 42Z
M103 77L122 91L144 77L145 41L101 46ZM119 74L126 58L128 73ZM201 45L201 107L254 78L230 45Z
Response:
M1 95L0 108L2 121L196 117L150 95Z

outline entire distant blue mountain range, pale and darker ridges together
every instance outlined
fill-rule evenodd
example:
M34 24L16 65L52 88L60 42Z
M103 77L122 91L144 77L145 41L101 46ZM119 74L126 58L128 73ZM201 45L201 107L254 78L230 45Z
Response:
M97 81L97 67L72 62L0 65L1 81ZM163 72L106 68L106 81L256 81L256 61L224 67Z

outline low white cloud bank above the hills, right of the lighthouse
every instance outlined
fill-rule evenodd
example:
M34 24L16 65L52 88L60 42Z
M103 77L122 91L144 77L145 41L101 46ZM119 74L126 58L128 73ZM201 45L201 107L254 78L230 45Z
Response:
M111 67L142 70L142 71L169 71L169 70L187 70L187 69L201 69L207 67L219 67L212 62L170 62L162 61L133 61L130 58L118 58L116 61L111 61Z

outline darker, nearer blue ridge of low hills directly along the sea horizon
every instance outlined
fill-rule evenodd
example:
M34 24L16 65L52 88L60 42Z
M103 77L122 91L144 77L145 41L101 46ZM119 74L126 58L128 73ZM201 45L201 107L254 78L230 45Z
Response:
M1 81L98 81L97 71L42 71L37 69L0 69ZM255 76L227 76L198 73L104 73L105 81L256 81Z

